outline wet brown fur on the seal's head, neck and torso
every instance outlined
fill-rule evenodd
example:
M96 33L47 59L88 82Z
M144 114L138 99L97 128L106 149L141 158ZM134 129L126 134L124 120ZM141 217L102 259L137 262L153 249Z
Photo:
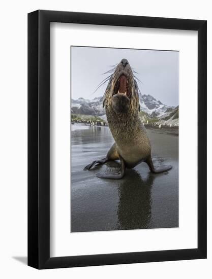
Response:
M108 125L115 140L115 147L114 145L112 146L107 157L113 160L113 158L118 157L117 155L120 155L124 159L126 166L134 167L151 154L151 145L145 127L138 116L139 97L130 65L126 69L131 89L130 109L127 113L119 113L113 109L113 90L119 77L119 72L118 65L112 81L106 89L104 99Z

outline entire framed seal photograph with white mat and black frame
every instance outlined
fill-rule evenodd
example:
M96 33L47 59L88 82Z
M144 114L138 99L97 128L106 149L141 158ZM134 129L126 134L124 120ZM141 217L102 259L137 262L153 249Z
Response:
M28 14L28 265L206 258L206 21Z

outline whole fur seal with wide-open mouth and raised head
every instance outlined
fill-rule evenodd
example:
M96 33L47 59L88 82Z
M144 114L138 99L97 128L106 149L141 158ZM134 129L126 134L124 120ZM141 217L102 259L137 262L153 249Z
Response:
M121 179L126 168L133 168L141 162L147 163L150 171L163 172L172 168L170 165L155 167L152 161L151 144L144 125L138 115L138 85L127 59L122 59L114 69L104 94L103 107L110 131L115 143L107 156L93 161L84 169L101 165L111 160L120 160L119 173L97 173L98 178Z

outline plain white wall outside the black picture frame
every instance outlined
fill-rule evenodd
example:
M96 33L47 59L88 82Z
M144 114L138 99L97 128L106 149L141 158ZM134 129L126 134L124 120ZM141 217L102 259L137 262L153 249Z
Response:
M68 268L38 271L23 264L27 239L27 13L37 10L60 10L129 14L156 17L205 19L208 27L208 107L211 104L211 33L210 1L95 1L95 0L19 0L1 4L1 82L0 82L0 180L1 229L0 274L2 278L114 278L163 277L210 278L211 250L211 146L208 146L208 259ZM208 110L208 142L212 142L211 118ZM188 173L188 175L192 175ZM21 261L22 262L21 262Z

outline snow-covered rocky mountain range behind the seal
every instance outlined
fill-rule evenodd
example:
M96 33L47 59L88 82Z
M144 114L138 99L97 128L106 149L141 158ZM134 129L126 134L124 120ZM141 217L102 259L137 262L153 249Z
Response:
M71 101L71 113L99 116L106 120L105 109L102 106L102 97L96 97L92 100L78 98ZM164 118L168 120L168 116L172 117L175 110L174 107L163 104L151 95L141 95L139 93L140 110L145 113L145 117L158 118L165 122ZM175 118L176 119L176 118ZM178 120L178 117L177 117ZM176 122L176 120L174 121Z

